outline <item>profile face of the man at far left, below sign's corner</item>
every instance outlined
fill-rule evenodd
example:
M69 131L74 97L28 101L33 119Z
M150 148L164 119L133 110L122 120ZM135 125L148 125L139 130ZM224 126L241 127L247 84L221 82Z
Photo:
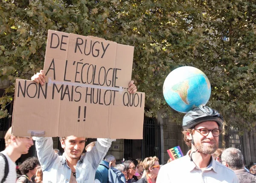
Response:
M32 137L14 137L17 151L24 155L29 152L29 148L34 145Z

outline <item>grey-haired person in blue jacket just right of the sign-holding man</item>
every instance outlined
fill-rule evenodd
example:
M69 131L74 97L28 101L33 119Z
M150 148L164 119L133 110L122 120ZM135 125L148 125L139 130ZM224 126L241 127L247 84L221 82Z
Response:
M108 169L116 166L116 158L113 155L107 155L104 160L99 164L95 173L95 182L107 183L108 182Z

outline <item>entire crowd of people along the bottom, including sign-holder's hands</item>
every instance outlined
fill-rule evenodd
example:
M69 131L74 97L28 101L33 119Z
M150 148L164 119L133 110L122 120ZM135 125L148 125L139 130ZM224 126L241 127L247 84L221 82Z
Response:
M44 71L32 79L44 84ZM136 92L133 81L128 91ZM0 152L2 183L251 183L256 182L256 166L244 167L239 149L218 149L223 116L207 106L190 110L183 117L184 141L190 150L184 157L161 166L157 157L122 162L107 155L115 139L98 138L85 147L86 138L61 137L61 155L50 137L17 137L12 127L6 132L6 149ZM37 158L25 160L18 169L15 161L34 144ZM86 149L86 152L85 152ZM17 172L20 171L20 176Z

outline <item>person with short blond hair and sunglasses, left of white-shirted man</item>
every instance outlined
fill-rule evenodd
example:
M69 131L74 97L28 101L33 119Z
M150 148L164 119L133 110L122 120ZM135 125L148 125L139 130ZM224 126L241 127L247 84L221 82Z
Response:
M136 183L156 183L160 169L158 158L156 156L145 158L142 164L146 171L146 176L138 180Z

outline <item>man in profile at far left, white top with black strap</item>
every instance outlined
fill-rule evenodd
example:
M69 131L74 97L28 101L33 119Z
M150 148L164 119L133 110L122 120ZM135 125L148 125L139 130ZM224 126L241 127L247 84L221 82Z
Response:
M4 137L6 149L0 152L0 182L15 183L17 180L15 161L21 155L27 154L34 145L32 137L16 137L12 135L12 127L7 130ZM5 172L8 163L9 172ZM5 181L3 179L5 178Z

